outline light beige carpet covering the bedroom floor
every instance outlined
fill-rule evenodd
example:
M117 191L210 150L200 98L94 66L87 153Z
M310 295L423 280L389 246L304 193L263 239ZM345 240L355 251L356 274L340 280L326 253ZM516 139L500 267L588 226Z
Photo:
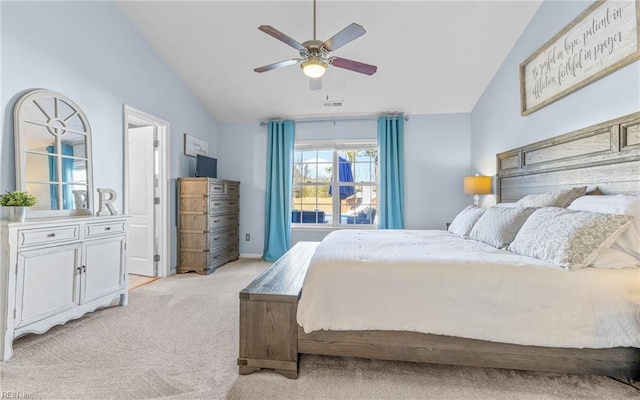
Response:
M599 376L342 357L302 356L297 380L239 376L238 292L268 265L240 260L208 276L164 278L132 291L127 307L20 338L0 363L0 398L640 398L640 390Z

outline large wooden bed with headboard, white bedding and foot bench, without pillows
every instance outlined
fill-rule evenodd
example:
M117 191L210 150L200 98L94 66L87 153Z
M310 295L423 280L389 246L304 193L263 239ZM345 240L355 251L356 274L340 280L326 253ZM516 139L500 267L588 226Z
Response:
M638 196L640 113L500 153L497 167L499 202L515 202L530 194L580 185L605 194ZM363 230L345 237L344 233L336 232L328 236L328 241L338 243L338 248L340 244L344 248L358 248L358 243L373 240L368 237L370 234L374 233ZM385 237L387 234L392 233L375 233L381 243L392 240ZM370 257L372 251L365 248L359 254L346 256L334 249L323 250L324 243L316 251L318 245L309 243L294 247L241 291L240 373L269 368L294 378L298 354L306 353L640 379L639 269L587 268L572 274L545 262L472 241L466 241L466 245L484 252L482 257L478 258L471 250L467 252L467 247L457 251L455 249L463 249L465 241L444 231L402 231L400 234L404 235L406 246L430 241L444 243L449 250L441 253L438 262L447 268L426 271L413 268L412 261L403 263L404 250L398 250L396 245L385 249L380 244L382 258L392 254L393 260L378 257L369 260L366 267L356 265L345 269L344 265L332 266L330 261L340 263L348 257ZM474 264L476 270L484 271L475 279L473 285L476 286L467 279L468 274L457 271L461 267L450 256L454 251L457 258L467 257L466 261ZM316 264L309 267L312 260L323 268L316 268ZM379 265L382 261L398 263L404 269L401 274L388 274ZM514 265L523 268L518 270ZM382 275L358 280L364 272L358 268L379 269ZM323 275L331 269L342 270L344 278L335 280L331 274ZM522 269L536 273L522 280L519 278ZM365 272L365 275L368 274ZM391 286L401 284L400 278L415 287L402 296L393 296L392 303L385 294ZM422 285L425 279L429 283ZM327 282L322 283L323 280ZM513 285L510 281L520 284ZM605 288L604 281L615 282ZM443 287L450 284L447 282L455 282L455 288L444 290ZM572 289L567 290L567 285ZM335 288L329 296L326 295L328 287ZM373 293L365 294L367 287L373 289ZM614 292L618 288L626 296L612 298L607 294L612 288ZM315 296L316 291L324 292L324 297ZM427 297L422 296L425 293ZM474 293L481 299L469 302L468 297ZM523 308L535 293L537 305ZM369 299L367 302L356 301L365 297ZM463 315L458 303L465 298L469 312ZM505 298L513 301L505 302ZM318 302L324 304L321 307L314 304ZM562 307L551 312L549 303L553 302L564 302L571 307L565 309L565 314L558 311ZM596 303L607 304L602 314L594 318L599 320L584 321L573 312L576 303L578 308L585 309ZM488 311L497 318L494 322L485 318ZM378 314L393 318L383 323L376 319ZM433 319L434 315L438 316L435 324L421 323ZM508 325L517 329L507 329ZM538 325L547 325L544 335L540 334ZM549 326L562 325L554 336ZM599 336L590 334L598 330L611 332Z

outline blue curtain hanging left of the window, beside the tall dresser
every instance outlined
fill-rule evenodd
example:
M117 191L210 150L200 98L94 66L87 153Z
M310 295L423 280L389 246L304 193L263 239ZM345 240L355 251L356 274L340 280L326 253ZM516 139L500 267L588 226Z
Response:
M291 243L295 125L293 121L269 121L268 135L263 258L275 261Z

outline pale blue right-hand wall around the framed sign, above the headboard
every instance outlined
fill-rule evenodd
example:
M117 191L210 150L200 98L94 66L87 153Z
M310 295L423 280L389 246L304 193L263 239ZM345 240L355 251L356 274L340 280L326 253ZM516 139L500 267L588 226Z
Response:
M471 113L472 169L494 175L496 153L640 110L636 61L526 117L520 115L520 63L591 4L545 1L540 6Z

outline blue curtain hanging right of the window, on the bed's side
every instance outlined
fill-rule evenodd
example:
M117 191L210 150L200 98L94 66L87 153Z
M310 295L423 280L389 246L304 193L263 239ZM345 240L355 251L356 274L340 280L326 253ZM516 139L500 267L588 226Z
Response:
M404 116L378 118L380 190L378 228L404 227Z

